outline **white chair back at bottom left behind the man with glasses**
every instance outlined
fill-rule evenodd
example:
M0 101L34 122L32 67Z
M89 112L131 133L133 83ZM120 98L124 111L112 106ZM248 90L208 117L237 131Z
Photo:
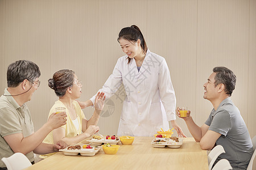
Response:
M2 162L5 163L8 170L21 170L32 165L27 156L19 152L8 158L2 158Z

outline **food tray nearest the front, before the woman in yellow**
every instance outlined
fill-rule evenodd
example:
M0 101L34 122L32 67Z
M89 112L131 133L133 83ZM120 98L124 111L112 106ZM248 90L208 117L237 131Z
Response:
M81 147L86 144L77 144L80 145ZM76 145L71 145L71 146L76 146ZM91 145L93 146L93 145ZM69 146L68 146L69 147ZM64 148L63 150L59 150L63 152L64 155L69 155L69 156L75 156L75 155L82 155L82 156L94 156L97 154L102 146L94 146L94 148L81 148L80 150L68 150L68 147Z

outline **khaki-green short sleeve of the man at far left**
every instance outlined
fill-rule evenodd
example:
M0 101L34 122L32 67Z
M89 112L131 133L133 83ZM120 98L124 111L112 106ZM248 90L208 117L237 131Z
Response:
M15 133L22 133L22 126L15 111L9 108L0 109L0 133L2 137Z

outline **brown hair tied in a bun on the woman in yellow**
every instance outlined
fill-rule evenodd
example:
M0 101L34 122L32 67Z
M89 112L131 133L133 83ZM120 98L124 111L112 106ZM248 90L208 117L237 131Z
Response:
M73 86L75 72L68 69L59 70L48 79L48 86L55 91L58 97L66 94L68 87Z

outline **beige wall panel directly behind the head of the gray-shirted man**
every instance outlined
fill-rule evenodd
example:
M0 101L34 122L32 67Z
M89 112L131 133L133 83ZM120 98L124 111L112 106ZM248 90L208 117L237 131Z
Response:
M212 105L203 99L203 84L213 67L225 66L237 76L232 95L247 123L250 1L199 1L197 36L197 118L204 124Z

